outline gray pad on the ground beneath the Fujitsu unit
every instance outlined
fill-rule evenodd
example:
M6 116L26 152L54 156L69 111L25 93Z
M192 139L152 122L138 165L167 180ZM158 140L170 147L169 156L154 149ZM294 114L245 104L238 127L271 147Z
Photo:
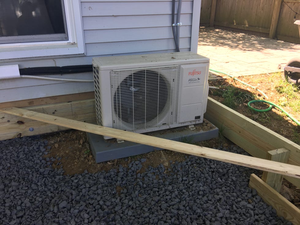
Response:
M151 132L147 135L189 144L209 140L219 135L219 129L206 120L204 123L194 126L196 129L193 130L189 129L189 126L183 126ZM104 140L103 136L93 133L87 133L87 135L96 163L161 150L161 148L130 141L118 143L116 139Z

